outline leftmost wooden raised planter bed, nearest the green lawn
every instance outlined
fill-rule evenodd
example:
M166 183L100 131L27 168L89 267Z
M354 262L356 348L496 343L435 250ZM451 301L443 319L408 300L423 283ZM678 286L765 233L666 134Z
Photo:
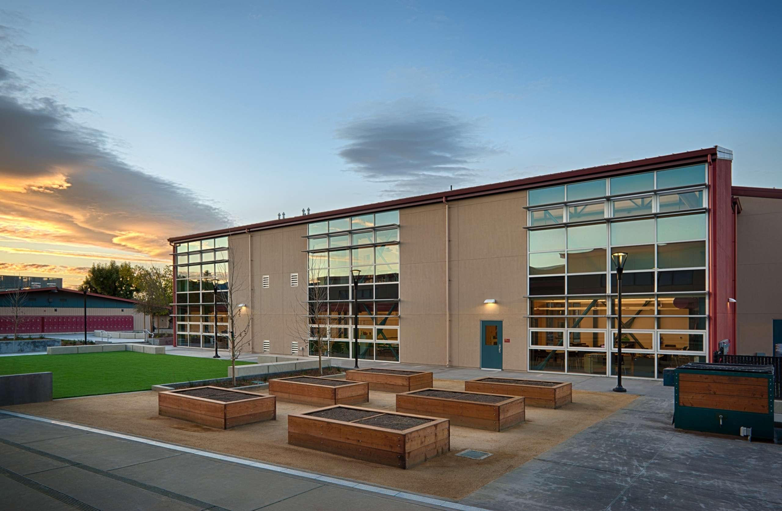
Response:
M158 413L227 430L277 418L277 398L232 388L194 387L159 392Z

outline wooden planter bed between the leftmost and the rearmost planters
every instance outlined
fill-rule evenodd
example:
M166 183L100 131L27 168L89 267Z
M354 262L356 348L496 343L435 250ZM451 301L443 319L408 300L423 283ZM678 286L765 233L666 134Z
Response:
M294 376L269 380L269 394L307 405L356 405L369 401L369 384L324 377Z

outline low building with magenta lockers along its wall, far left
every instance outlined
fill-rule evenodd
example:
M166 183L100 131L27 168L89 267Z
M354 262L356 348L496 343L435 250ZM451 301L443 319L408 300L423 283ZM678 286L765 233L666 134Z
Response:
M13 334L13 295L0 291L0 334ZM84 331L84 293L74 289L23 290L20 334L76 333ZM136 312L135 300L87 294L87 330L128 331L144 328L144 315ZM167 318L159 327L167 326ZM147 320L149 327L149 320Z

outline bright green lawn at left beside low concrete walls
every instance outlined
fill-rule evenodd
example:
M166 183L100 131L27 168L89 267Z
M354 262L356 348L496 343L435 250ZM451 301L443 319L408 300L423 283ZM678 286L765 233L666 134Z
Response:
M249 362L238 362L236 365ZM52 372L54 398L148 391L156 384L228 376L228 359L138 352L0 357L0 374Z

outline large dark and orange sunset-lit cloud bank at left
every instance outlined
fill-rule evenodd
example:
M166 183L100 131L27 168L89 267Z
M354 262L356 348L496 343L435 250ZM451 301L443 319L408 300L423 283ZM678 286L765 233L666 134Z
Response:
M2 27L0 43L10 44ZM107 134L74 120L77 109L30 96L0 65L0 235L163 261L166 238L230 223L187 188L126 163Z

